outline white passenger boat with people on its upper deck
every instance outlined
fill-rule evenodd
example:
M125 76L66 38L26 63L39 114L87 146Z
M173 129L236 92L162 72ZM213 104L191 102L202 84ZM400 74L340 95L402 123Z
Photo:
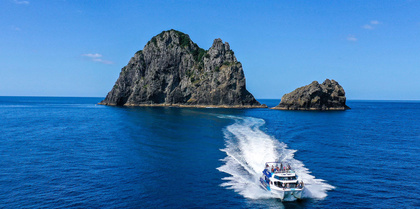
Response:
M285 162L267 162L260 182L264 189L281 200L301 199L305 188L290 164Z

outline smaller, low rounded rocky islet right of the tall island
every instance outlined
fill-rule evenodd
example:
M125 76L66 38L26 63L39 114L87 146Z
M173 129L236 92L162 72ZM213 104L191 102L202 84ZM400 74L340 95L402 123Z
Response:
M300 87L281 98L280 110L346 110L346 96L337 81L326 79L322 84L317 81Z

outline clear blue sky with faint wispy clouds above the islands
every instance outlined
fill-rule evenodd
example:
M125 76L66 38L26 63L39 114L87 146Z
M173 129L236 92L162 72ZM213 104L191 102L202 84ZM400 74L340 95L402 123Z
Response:
M164 30L229 42L257 99L334 79L349 100L420 100L420 0L0 0L0 96L105 97Z

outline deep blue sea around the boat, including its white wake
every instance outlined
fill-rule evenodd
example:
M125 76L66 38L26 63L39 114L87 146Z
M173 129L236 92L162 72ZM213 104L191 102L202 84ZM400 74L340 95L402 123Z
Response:
M101 99L0 97L0 208L420 207L420 102L316 112ZM306 182L303 200L259 187L278 158Z

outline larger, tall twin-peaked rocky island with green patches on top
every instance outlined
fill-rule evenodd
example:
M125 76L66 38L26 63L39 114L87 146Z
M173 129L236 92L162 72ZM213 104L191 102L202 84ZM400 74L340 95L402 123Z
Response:
M204 50L176 30L153 37L123 67L103 105L266 107L245 88L242 64L216 39Z

